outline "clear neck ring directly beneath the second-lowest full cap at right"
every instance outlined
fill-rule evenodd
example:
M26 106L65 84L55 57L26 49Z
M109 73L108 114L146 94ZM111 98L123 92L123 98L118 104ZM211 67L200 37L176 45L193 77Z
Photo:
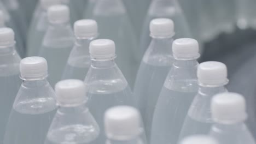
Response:
M218 93L224 93L227 92L225 86L218 86L218 87L206 87L206 86L200 86L199 87L199 93L201 95L209 95L213 97L213 95Z

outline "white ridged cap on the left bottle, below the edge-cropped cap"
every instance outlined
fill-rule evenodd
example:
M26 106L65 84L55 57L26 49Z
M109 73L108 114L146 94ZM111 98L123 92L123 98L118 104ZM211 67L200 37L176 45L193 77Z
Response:
M20 62L22 79L41 79L48 76L47 61L43 57L26 57Z

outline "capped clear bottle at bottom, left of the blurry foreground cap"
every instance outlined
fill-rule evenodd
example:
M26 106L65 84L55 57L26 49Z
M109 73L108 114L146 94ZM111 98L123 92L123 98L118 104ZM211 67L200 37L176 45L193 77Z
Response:
M51 123L45 144L92 143L100 129L86 103L84 82L63 80L55 85L59 109Z

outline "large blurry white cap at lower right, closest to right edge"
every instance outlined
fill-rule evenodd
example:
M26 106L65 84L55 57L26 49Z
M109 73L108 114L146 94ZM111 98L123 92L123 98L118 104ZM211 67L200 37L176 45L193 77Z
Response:
M216 123L234 124L246 120L246 101L237 93L220 93L212 98L212 118Z

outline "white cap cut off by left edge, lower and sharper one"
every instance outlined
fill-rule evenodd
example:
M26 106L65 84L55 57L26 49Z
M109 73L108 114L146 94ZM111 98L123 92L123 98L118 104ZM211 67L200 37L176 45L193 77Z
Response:
M8 27L0 28L0 46L12 45L15 43L14 31Z

